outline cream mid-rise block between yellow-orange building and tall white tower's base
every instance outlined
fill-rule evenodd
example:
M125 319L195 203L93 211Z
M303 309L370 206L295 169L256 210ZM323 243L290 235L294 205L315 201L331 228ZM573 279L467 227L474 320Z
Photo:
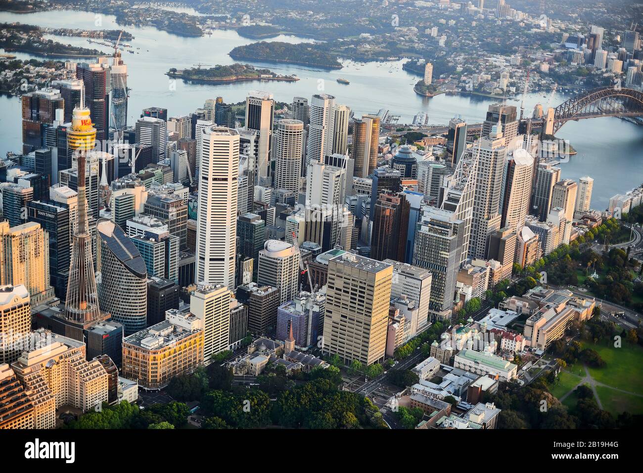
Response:
M231 292L221 284L199 283L190 296L190 312L203 324L203 361L228 350Z

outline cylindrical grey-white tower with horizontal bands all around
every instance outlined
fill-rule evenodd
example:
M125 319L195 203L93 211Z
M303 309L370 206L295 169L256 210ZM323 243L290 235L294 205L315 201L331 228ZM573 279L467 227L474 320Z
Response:
M280 120L273 138L275 188L298 192L302 176L303 121Z

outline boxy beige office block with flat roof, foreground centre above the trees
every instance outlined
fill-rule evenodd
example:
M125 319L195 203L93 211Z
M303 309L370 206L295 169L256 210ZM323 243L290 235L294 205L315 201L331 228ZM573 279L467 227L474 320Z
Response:
M370 365L384 358L392 265L343 253L329 260L322 350Z

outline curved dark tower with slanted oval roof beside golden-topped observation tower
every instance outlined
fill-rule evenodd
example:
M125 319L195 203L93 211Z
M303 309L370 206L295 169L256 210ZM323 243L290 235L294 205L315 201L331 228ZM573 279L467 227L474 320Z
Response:
M125 335L145 328L147 321L147 267L132 240L111 220L96 226L99 247L100 307L110 312Z

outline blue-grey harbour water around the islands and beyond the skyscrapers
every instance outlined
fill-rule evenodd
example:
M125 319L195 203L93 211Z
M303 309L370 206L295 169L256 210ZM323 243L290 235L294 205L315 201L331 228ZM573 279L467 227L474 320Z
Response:
M160 31L152 26L122 27L111 15L91 12L55 10L28 14L0 13L0 22L19 21L51 28L124 29L134 35L129 41L131 51L123 53L128 68L131 93L128 103L128 123L134 123L145 107L164 107L168 114L188 114L202 107L208 98L222 96L228 103L245 100L251 90L264 90L274 94L278 102L291 102L294 96L310 98L312 94L329 93L345 103L356 116L388 109L399 115L401 123L412 123L413 116L425 112L427 122L446 124L454 116L469 122L484 120L485 112L493 98L459 94L440 94L433 98L421 97L413 92L419 76L403 71L403 60L393 62L354 62L341 60L342 69L327 71L314 67L289 64L251 62L253 66L267 67L286 75L297 75L297 82L239 82L224 85L188 84L183 80L172 82L165 75L170 67L210 67L216 64L233 64L228 53L235 46L250 44L255 40L240 37L235 30L213 30L203 37L181 37ZM87 42L80 37L51 37L51 39L97 48L105 54L112 49ZM312 42L312 39L280 35L269 41ZM15 53L18 58L40 58L26 53ZM82 61L82 59L79 59ZM339 84L338 78L349 80L350 85ZM548 94L547 94L548 95ZM550 105L555 106L568 96L554 94ZM547 103L543 94L529 94L525 113L529 114L536 103ZM519 101L509 104L520 107ZM0 156L7 151L21 148L21 107L19 98L0 96ZM643 127L619 118L595 118L572 121L561 129L558 138L568 139L577 150L568 163L563 163L565 178L578 179L583 175L593 177L592 208L606 208L611 195L622 193L643 183Z

